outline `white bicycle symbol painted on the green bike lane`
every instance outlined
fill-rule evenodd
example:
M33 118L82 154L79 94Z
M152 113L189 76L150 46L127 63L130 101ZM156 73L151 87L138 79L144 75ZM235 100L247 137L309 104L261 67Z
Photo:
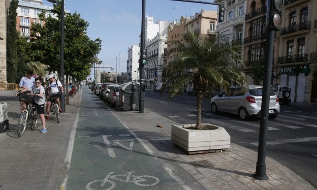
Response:
M133 175L134 172L126 172L126 174L112 175L114 172L108 173L105 179L98 179L87 183L86 188L88 190L109 190L115 187L113 180L121 181L124 183L134 183L140 186L153 186L160 182L160 179L150 175ZM111 179L111 180L110 180Z

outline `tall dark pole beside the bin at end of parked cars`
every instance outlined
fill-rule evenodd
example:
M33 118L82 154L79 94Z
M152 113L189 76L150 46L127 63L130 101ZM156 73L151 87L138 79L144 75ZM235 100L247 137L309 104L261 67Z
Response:
M142 23L141 23L141 51L145 49L145 0L142 0ZM142 53L140 53L140 61L139 61L139 68L140 68L140 99L139 99L139 113L144 112L144 97L145 91L143 91L144 85L144 65L142 64Z

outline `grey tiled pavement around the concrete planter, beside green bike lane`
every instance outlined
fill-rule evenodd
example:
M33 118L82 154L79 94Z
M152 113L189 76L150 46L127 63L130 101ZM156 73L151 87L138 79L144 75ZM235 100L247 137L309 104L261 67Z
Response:
M256 172L257 152L231 143L228 150L222 152L187 155L171 140L171 125L179 124L144 110L139 112L113 111L121 122L144 142L151 143L153 151L164 152L184 171L196 179L206 189L315 189L296 173L280 163L266 157L268 180L252 177ZM158 128L157 124L163 125ZM208 161L209 167L197 167L192 162Z

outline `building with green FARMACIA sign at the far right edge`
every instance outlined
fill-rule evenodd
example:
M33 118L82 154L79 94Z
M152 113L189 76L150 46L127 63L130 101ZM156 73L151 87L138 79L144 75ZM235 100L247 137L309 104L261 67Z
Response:
M294 102L317 102L317 1L284 0L276 83L292 87Z

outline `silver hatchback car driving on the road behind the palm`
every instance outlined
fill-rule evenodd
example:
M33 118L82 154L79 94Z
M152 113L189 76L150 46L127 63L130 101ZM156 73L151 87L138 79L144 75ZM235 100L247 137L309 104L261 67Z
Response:
M211 112L238 114L242 120L261 115L262 86L232 86L228 93L223 91L211 99ZM279 112L279 102L270 91L269 118L275 119Z

